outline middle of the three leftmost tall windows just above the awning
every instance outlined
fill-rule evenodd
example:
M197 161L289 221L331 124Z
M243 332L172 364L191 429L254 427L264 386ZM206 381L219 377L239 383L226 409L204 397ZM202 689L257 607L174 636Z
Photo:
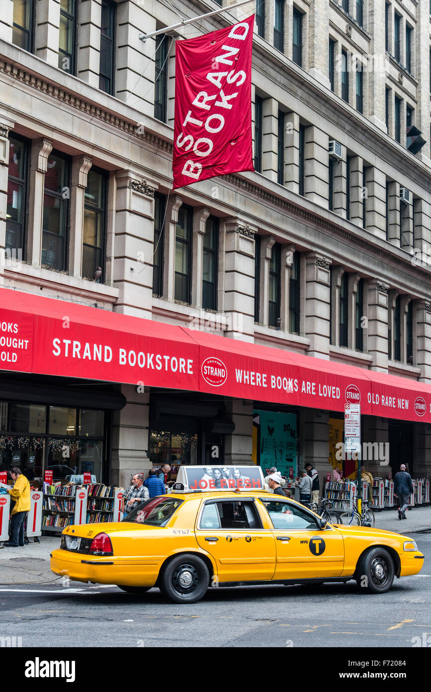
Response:
M70 159L53 150L45 174L41 264L58 271L67 268L70 208L64 190L69 185Z

